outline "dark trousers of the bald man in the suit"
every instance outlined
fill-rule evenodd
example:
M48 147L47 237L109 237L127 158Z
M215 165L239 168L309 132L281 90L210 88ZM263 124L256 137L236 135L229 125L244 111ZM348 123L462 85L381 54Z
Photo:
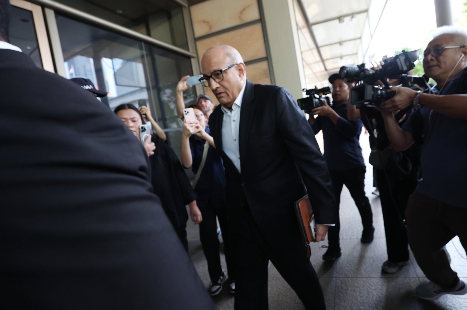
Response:
M236 310L268 309L268 261L297 293L306 309L325 309L318 281L300 235L282 247L272 246L262 235L248 205L244 206L235 238L237 279Z

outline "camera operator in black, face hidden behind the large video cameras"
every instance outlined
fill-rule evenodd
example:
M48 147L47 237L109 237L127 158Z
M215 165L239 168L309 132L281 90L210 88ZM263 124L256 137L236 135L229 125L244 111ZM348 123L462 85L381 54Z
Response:
M381 69L373 68L373 71ZM399 81L390 79L390 84L398 85ZM420 148L413 145L403 153L396 153L388 139L384 128L382 114L374 107L355 105L347 106L349 120L364 120L369 132L370 163L374 167L376 183L380 193L380 201L386 237L388 260L382 263L382 271L396 273L409 264L409 248L407 230L405 228L404 210L410 194L417 186L417 173L420 166ZM402 116L396 126L406 121ZM377 128L376 136L374 124Z

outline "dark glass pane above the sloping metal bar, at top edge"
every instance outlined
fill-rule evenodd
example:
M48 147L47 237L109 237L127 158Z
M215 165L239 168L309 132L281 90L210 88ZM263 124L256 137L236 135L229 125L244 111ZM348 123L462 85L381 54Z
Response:
M106 21L188 50L182 7L172 0L57 0Z

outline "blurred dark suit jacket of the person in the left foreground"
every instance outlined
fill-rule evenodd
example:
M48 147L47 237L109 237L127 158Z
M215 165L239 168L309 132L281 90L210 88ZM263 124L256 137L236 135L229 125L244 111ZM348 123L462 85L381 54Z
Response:
M0 49L0 309L213 309L148 166L92 94Z

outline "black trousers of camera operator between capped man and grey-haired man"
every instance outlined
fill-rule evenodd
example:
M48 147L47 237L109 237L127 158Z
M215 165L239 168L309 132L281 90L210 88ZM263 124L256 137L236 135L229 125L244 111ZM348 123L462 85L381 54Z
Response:
M408 261L409 246L404 223L404 210L410 194L417 185L417 176L411 175L394 181L390 179L389 175L390 183L388 183L384 170L375 170L380 192L388 260L394 263Z

